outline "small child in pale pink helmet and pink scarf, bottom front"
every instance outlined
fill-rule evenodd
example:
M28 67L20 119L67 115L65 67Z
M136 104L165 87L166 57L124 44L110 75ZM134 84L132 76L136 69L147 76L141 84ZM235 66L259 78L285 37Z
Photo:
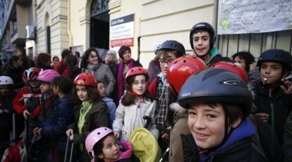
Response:
M91 161L132 161L132 144L118 142L109 127L99 127L90 132L85 139L85 147Z

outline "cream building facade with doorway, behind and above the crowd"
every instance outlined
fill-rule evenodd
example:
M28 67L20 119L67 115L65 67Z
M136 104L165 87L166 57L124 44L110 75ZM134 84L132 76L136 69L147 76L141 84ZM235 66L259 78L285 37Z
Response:
M0 16L4 20L0 24L1 47L2 51L9 47L13 51L15 46L25 46L27 54L34 56L40 52L61 56L66 48L83 54L90 46L118 51L122 44L129 44L132 57L147 68L154 58L154 46L168 39L181 42L186 53L193 54L190 28L195 23L207 22L217 29L218 3L217 0L1 0ZM258 57L265 49L291 52L291 38L291 30L219 35L216 46L223 56L244 50Z

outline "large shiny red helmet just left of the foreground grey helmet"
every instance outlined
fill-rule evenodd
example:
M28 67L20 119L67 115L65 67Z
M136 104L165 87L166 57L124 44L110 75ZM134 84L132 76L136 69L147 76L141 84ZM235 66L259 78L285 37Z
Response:
M207 66L204 61L196 56L182 56L176 58L176 60L169 64L169 68L166 72L171 91L175 96L178 96L185 80L187 80L190 75L206 68Z

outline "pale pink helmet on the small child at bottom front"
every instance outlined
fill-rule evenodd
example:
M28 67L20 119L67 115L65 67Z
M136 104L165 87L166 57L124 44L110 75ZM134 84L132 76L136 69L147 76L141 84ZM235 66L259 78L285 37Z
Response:
M92 160L95 160L95 152L93 151L95 144L112 132L113 130L109 129L109 127L99 127L87 135L85 139L85 148L90 157L93 158Z

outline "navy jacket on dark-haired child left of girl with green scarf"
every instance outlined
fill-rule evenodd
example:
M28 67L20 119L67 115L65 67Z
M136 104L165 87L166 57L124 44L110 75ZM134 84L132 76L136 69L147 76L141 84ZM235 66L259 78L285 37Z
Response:
M66 149L66 129L74 120L74 104L71 96L56 99L53 113L49 120L42 123L41 133L56 142L57 149Z

